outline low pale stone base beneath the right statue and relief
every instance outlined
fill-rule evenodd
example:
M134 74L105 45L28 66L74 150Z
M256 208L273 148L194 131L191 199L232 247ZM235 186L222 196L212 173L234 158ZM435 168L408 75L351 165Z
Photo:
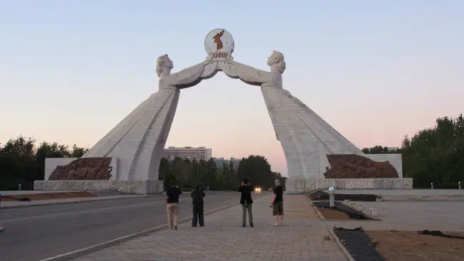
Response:
M412 178L289 178L286 180L287 194L303 194L311 190L367 190L413 188Z

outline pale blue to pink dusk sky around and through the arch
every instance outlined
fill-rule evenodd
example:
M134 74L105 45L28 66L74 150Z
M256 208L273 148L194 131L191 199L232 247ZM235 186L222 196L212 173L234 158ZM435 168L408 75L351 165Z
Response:
M201 63L216 28L249 66L281 51L283 87L358 148L463 113L464 1L0 0L0 143L91 147L158 90L158 56ZM223 73L181 91L166 146L185 145L287 172L260 88Z

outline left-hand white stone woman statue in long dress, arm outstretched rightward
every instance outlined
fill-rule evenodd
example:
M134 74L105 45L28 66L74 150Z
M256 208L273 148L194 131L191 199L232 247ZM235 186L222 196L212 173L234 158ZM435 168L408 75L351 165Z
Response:
M116 157L118 180L158 180L161 154L171 129L181 88L198 83L203 63L171 74L167 54L156 59L159 86L94 145L84 157Z

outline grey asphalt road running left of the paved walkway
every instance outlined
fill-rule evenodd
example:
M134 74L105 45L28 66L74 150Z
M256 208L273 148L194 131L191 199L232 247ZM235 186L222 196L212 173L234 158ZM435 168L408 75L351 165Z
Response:
M238 193L207 193L205 211L238 203ZM180 218L191 216L181 196ZM163 196L1 210L1 261L42 260L166 224ZM208 218L206 218L206 224Z

